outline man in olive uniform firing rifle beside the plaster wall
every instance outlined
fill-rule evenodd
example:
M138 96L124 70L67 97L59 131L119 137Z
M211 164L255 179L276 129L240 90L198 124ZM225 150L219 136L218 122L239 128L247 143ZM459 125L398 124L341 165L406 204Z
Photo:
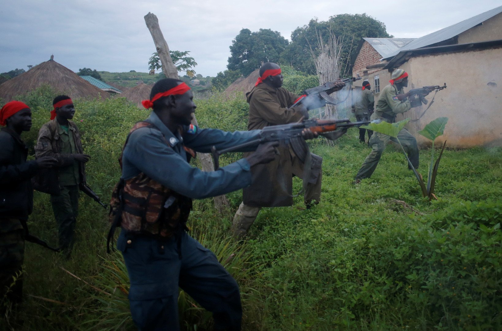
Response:
M387 123L396 122L396 115L410 110L411 104L408 98L403 100L398 99L398 94L404 93L404 87L408 87L408 73L403 69L396 69L391 75L391 83L384 87L381 92L379 100L376 102L375 112L371 115L371 120L381 120ZM411 164L418 168L418 146L417 140L413 137L408 130L402 129L398 134L399 142L403 145L408 154ZM369 146L372 150L362 163L361 168L355 175L354 183L358 184L363 178L371 177L375 171L382 153L384 152L385 145L392 140L399 143L398 139L375 132L369 139Z

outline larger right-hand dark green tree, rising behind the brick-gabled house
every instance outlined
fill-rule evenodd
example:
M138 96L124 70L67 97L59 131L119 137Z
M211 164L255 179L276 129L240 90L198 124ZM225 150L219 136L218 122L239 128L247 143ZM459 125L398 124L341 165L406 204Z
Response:
M315 74L315 66L310 52L317 48L318 35L327 42L329 32L343 43L341 60L342 71L347 73L351 59L361 38L392 38L384 23L366 14L340 14L331 16L328 21L310 20L308 25L296 28L291 33L291 43L281 53L280 62L292 65L296 70Z

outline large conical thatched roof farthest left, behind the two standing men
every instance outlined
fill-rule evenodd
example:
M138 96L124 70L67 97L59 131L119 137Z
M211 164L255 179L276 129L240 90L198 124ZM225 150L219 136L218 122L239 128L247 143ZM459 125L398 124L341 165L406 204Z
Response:
M16 76L0 85L0 98L10 101L16 95L30 92L42 84L49 84L54 89L68 94L72 98L93 99L108 97L88 81L52 59L42 62L25 73Z

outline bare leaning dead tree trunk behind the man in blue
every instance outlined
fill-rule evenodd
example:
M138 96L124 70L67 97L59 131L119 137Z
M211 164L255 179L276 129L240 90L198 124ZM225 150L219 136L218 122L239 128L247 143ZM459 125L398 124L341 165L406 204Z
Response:
M148 30L155 43L155 48L157 49L157 54L159 54L160 61L162 63L162 71L168 78L179 79L178 70L176 69L171 55L169 54L169 46L167 45L164 35L160 30L159 20L157 16L152 13L145 15L145 23L147 24ZM192 119L192 124L197 125L197 120L195 119L195 114ZM197 153L200 164L202 165L203 171L214 171L213 161L209 154ZM214 206L220 212L224 211L229 207L228 200L226 196L220 195L214 197Z

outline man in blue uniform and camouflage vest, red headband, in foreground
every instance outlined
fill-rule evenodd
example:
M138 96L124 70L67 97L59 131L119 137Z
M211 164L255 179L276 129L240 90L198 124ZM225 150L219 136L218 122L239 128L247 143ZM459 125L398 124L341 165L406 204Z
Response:
M192 199L249 186L250 168L272 161L278 144L261 145L244 159L203 172L190 166L187 153L235 146L256 139L261 131L228 133L191 125L196 108L193 95L177 79L159 80L143 105L153 112L131 130L121 157L121 183L114 191L120 203L114 197L111 201L112 208L121 205L113 224L122 228L117 248L131 281L133 320L142 330L179 329L181 287L213 313L215 329L239 330L242 310L237 283L211 251L185 232L185 223Z

